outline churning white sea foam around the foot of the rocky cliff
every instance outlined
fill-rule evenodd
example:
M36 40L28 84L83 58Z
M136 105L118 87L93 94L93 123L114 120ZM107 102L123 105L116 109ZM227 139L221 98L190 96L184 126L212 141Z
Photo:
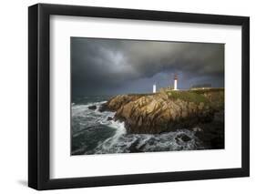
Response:
M97 129L97 125L113 128L114 130L110 138L98 141L96 148L93 148L93 150L85 150L86 154L190 150L202 148L200 146L200 140L194 135L195 131L188 129L179 129L175 132L163 134L128 134L124 122L108 119L108 117L113 118L115 116L114 112L98 111L98 107L105 102L106 101L72 106L72 122L77 120L77 122L74 123L78 123L76 124L78 126L75 124L72 126L73 137L80 136L86 132L83 128L95 130ZM97 109L89 109L88 107L90 106L97 106ZM183 141L180 136L187 136L189 140Z

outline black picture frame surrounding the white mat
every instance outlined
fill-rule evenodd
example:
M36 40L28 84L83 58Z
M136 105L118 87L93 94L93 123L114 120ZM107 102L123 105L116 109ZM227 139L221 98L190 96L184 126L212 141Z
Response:
M241 26L241 168L50 179L50 15ZM28 88L28 186L31 188L38 190L69 189L250 176L250 18L247 16L204 15L78 5L32 5L28 7Z

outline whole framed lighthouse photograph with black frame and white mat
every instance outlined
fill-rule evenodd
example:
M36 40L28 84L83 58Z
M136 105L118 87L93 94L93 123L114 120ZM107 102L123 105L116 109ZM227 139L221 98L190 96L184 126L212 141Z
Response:
M250 175L250 19L28 8L28 186Z

